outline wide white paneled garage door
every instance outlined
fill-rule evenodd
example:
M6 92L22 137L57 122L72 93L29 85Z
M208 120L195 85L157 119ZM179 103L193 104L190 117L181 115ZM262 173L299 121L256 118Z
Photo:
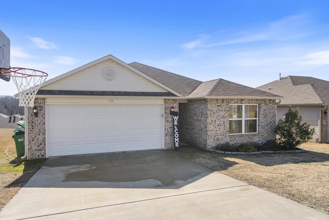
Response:
M47 157L163 149L161 104L48 104Z

